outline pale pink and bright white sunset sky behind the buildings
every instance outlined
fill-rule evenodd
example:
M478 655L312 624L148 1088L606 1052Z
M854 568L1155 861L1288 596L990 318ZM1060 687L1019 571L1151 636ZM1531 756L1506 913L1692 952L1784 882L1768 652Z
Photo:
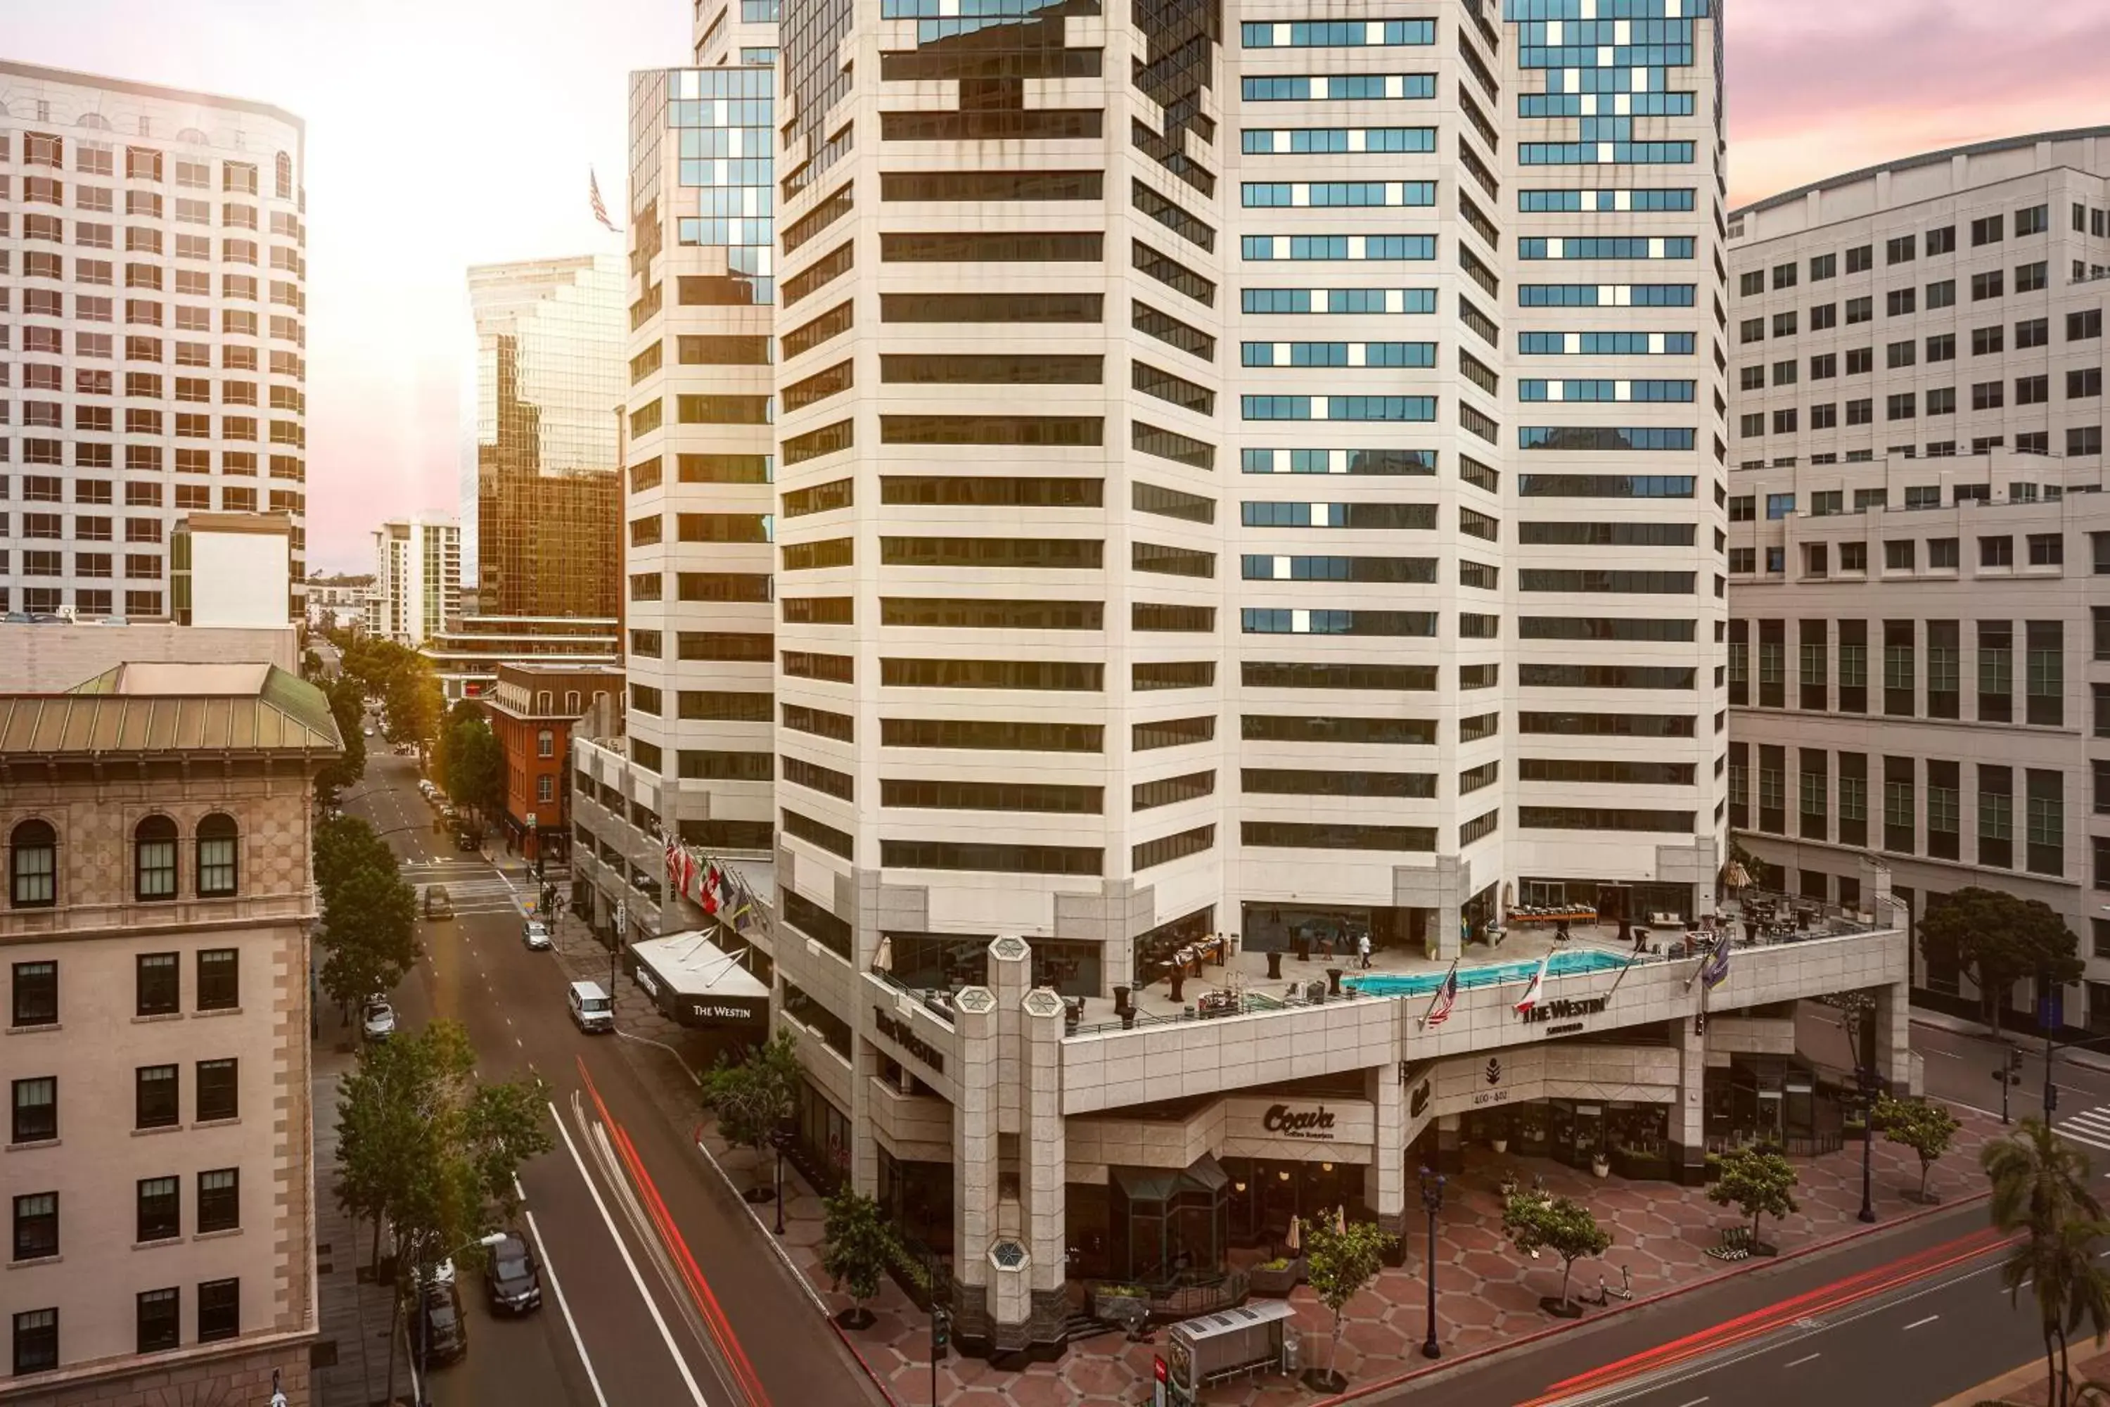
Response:
M1720 0L1718 0L1720 2ZM633 68L679 0L68 0L6 6L8 59L279 103L308 122L308 559L460 510L468 264L620 249ZM2110 122L2110 4L1730 0L1730 198L1895 156Z

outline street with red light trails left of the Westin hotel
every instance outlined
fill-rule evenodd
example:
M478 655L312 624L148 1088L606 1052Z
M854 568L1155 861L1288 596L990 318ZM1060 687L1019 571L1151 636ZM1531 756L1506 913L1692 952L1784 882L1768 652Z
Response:
M519 1175L517 1230L542 1261L542 1308L494 1318L481 1278L464 1272L468 1356L433 1373L433 1401L878 1401L804 1291L755 1245L745 1209L669 1126L618 1038L572 1025L561 960L521 943L532 884L435 835L416 764L380 738L369 745L365 783L344 810L386 835L405 882L445 884L456 911L422 922L426 960L392 994L399 1019L462 1021L483 1076L540 1074L557 1120L557 1150Z

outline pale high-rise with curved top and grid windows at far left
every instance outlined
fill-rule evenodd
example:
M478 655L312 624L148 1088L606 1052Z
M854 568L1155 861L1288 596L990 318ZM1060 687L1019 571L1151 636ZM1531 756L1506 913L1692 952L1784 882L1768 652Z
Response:
M175 521L274 510L306 612L304 143L266 103L0 63L6 610L169 616Z

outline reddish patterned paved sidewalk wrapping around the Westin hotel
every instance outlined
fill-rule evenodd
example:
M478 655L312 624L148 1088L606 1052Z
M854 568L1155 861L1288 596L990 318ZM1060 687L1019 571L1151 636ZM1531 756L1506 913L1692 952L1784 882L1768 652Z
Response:
M606 981L608 949L595 943L578 920L565 915L557 924L557 949L574 975ZM658 1051L633 1042L622 1046L646 1076L663 1116L677 1129L696 1129L698 1148L724 1169L734 1186L745 1188L749 1179L766 1175L770 1169L755 1167L751 1152L730 1150L717 1139L696 1101L692 1078L675 1059L669 1059L671 1046L679 1044L679 1027L660 1017L631 981L618 983L614 996L618 1029L665 1042L665 1048ZM1964 1107L1954 1107L1954 1112L1964 1120L1962 1133L1929 1179L1929 1190L1945 1202L1979 1192L1979 1148L2000 1133L1998 1122L1983 1114ZM1796 1188L1802 1211L1783 1223L1768 1221L1764 1228L1768 1242L1783 1253L1804 1251L1867 1230L1857 1219L1861 1209L1859 1143L1821 1158L1798 1158L1796 1167L1802 1175ZM1766 1264L1724 1264L1707 1255L1707 1247L1720 1242L1722 1228L1741 1223L1741 1215L1734 1209L1707 1202L1703 1188L1618 1177L1595 1179L1587 1171L1566 1169L1545 1158L1502 1158L1475 1150L1466 1156L1464 1173L1450 1183L1437 1236L1439 1335L1450 1358L1479 1348L1496 1348L1553 1325L1540 1312L1538 1297L1559 1289L1559 1261L1551 1255L1538 1261L1519 1257L1502 1238L1496 1183L1504 1169L1517 1169L1526 1179L1538 1175L1551 1192L1582 1200L1612 1232L1612 1251L1601 1261L1576 1264L1576 1291L1595 1293L1599 1274L1616 1289L1620 1268L1627 1268L1639 1302L1663 1291L1737 1274L1739 1268ZM705 1167L698 1167L696 1175L717 1177ZM1922 1211L1910 1200L1918 1181L1918 1158L1878 1139L1874 1200L1884 1223ZM779 1242L785 1257L829 1310L848 1308L848 1297L831 1293L827 1274L819 1268L821 1198L789 1164L785 1167L785 1236ZM751 1207L749 1213L755 1217L757 1245L776 1242L764 1219L774 1215L774 1209ZM1416 1228L1407 1236L1405 1264L1386 1270L1374 1289L1357 1297L1348 1310L1340 1367L1355 1384L1367 1386L1426 1365L1420 1356L1426 1316L1424 1268L1426 1232L1416 1217ZM1325 1352L1329 1314L1308 1287L1296 1291L1291 1306L1296 1308L1296 1327L1304 1333L1304 1361L1312 1363L1315 1352ZM922 1407L931 1401L928 1316L909 1304L890 1278L882 1280L882 1293L869 1308L878 1321L869 1329L846 1333L848 1346L897 1403ZM1612 1308L1591 1310L1580 1323L1620 1308L1629 1306L1614 1299ZM1152 1358L1158 1352L1163 1352L1163 1333L1158 1344L1127 1344L1120 1333L1101 1333L1072 1342L1057 1363L1032 1365L1019 1373L954 1356L939 1367L939 1403L943 1407L1133 1407L1148 1401ZM1285 1377L1234 1384L1205 1396L1211 1407L1287 1407L1304 1401L1310 1401L1310 1394Z

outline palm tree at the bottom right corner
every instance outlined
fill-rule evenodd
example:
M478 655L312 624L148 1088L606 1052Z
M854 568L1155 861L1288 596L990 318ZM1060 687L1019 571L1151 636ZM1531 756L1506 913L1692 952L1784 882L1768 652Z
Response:
M1992 1223L2023 1234L2000 1283L2011 1302L2030 1285L2051 1401L2066 1407L2072 1396L2068 1335L2083 1321L2097 1344L2110 1335L2110 1274L2095 1261L2095 1242L2110 1236L2110 1221L2089 1190L2089 1160L2049 1124L2026 1118L2013 1135L1988 1143L1979 1162L1992 1179Z

